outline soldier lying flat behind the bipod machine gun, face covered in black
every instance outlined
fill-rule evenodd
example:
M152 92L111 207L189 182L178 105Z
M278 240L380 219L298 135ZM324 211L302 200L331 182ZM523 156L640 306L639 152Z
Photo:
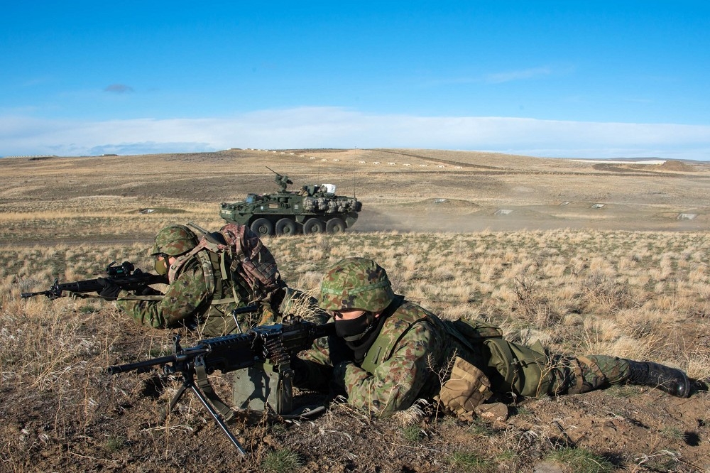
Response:
M539 342L508 342L491 326L440 320L395 295L386 271L370 259L332 266L319 302L332 314L336 335L292 361L294 385L341 394L373 415L430 398L465 419L493 393L557 396L615 384L690 395L690 381L679 369L601 354L551 354Z

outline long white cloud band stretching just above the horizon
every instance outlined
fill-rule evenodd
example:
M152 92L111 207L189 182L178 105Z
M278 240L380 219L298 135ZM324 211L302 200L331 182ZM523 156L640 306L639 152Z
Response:
M226 118L70 121L0 117L0 156L226 148L442 148L569 158L710 160L710 126L485 116L375 115L330 107Z

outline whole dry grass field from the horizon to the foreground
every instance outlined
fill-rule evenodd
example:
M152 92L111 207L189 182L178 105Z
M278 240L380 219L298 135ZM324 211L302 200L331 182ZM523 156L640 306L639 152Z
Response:
M265 239L290 286L315 291L330 264L368 256L444 318L481 317L557 352L677 366L698 380L693 395L621 386L519 399L505 420L470 424L423 404L384 420L334 405L302 422L238 420L242 459L192 396L159 421L176 381L105 373L167 354L170 332L95 298L19 297L101 276L111 261L151 269L165 224L217 229L219 202L275 190L265 165L364 206L344 234ZM229 150L4 158L0 178L1 472L710 469L710 165ZM213 378L227 393L229 375Z

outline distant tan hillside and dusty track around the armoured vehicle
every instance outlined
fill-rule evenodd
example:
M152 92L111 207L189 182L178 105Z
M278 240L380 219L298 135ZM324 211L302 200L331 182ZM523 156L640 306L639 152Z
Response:
M89 211L109 200L120 212L137 212L187 200L217 212L219 202L248 192L275 192L267 166L289 175L293 189L327 182L339 195L356 195L363 202L356 232L710 229L708 163L603 164L437 150L4 158L0 209L48 210L60 200L84 202Z

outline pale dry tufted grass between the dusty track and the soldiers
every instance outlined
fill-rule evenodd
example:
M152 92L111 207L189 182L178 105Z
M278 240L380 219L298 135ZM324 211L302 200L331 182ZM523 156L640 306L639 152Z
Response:
M486 251L476 251L484 237ZM594 241L615 237L599 232ZM519 339L529 339L533 330L535 337L551 340L564 352L665 361L672 353L676 358L670 360L679 366L707 366L696 361L708 354L693 338L707 326L710 305L709 266L701 259L710 244L704 234L636 234L635 248L621 258L605 256L601 243L564 256L569 251L563 249L579 238L569 231L440 234L435 239L430 234L376 233L266 239L266 244L285 280L314 295L327 266L362 254L381 262L399 293L443 318L486 317ZM542 265L524 256L513 259L510 247L520 241L557 256ZM665 249L671 242L692 250L682 254ZM654 251L639 256L639 246ZM451 247L468 249L472 259L461 260L460 251L447 250ZM100 276L110 261L131 260L146 269L151 264L141 244L4 248L0 258L3 383L40 389L55 388L67 372L86 369L87 360L108 359L115 349L112 340L120 337L120 316L101 300L20 300L19 293L48 288L55 277L70 281ZM670 271L663 286L641 277L658 266ZM689 347L694 356L687 354ZM708 376L705 370L697 375Z

